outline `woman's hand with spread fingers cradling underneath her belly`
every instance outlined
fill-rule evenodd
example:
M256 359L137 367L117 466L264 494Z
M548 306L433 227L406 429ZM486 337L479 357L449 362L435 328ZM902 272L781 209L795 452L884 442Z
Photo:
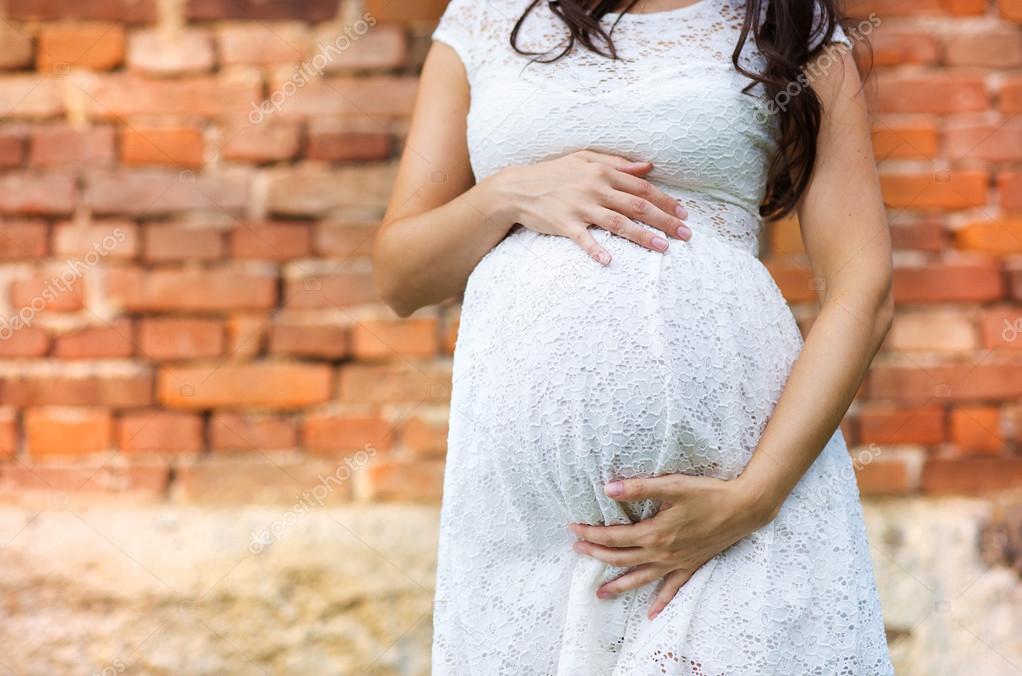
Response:
M741 478L722 481L666 475L611 482L604 491L617 501L660 501L655 516L637 524L569 526L580 538L573 545L575 551L632 569L601 586L597 590L600 598L663 578L663 586L649 610L650 620L666 607L703 564L769 524L780 509L777 499L754 491L750 482Z

